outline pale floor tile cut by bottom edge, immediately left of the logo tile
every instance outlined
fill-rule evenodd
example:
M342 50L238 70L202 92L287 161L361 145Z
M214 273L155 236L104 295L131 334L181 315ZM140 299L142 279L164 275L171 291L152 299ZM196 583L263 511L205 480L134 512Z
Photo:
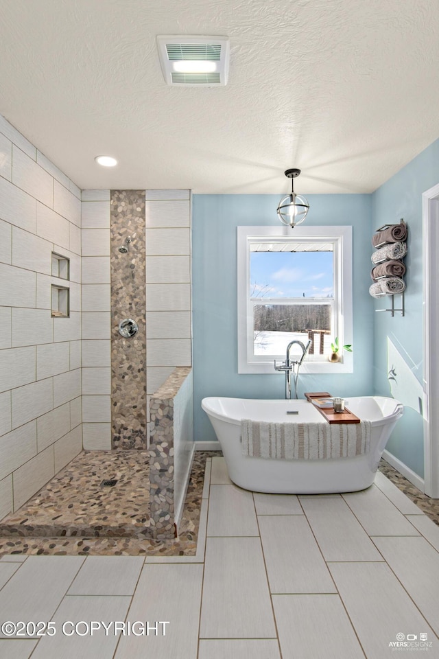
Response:
M283 659L364 659L338 595L274 595Z

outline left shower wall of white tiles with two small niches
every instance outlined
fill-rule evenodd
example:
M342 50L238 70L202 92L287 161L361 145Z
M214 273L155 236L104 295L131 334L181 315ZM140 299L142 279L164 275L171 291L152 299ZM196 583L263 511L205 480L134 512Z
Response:
M82 447L80 198L0 116L0 516L12 494L18 505L51 477L54 451L60 467ZM71 259L70 283L51 277L51 251ZM71 318L51 319L50 286L60 281L71 288Z

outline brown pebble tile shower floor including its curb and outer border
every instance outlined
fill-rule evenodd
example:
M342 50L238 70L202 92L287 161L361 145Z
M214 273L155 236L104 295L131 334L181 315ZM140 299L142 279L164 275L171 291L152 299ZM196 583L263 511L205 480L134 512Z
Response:
M195 553L206 456L195 452L176 540L148 537L147 451L83 451L1 520L0 554ZM112 479L114 487L102 486Z

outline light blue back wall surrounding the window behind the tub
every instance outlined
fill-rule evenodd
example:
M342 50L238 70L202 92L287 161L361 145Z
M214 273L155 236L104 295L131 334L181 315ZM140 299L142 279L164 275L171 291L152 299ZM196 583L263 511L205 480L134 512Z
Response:
M195 441L215 439L200 407L211 395L283 398L283 374L237 373L237 231L274 225L278 195L193 196L193 378ZM368 194L309 195L309 225L353 227L354 372L301 375L303 391L344 397L372 393L373 321L370 286L372 199Z

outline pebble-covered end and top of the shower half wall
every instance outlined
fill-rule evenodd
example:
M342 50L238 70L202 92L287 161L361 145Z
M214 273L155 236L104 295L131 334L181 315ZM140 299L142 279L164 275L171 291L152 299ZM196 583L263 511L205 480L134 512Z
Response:
M150 528L158 540L175 535L174 398L190 372L176 368L150 398Z

